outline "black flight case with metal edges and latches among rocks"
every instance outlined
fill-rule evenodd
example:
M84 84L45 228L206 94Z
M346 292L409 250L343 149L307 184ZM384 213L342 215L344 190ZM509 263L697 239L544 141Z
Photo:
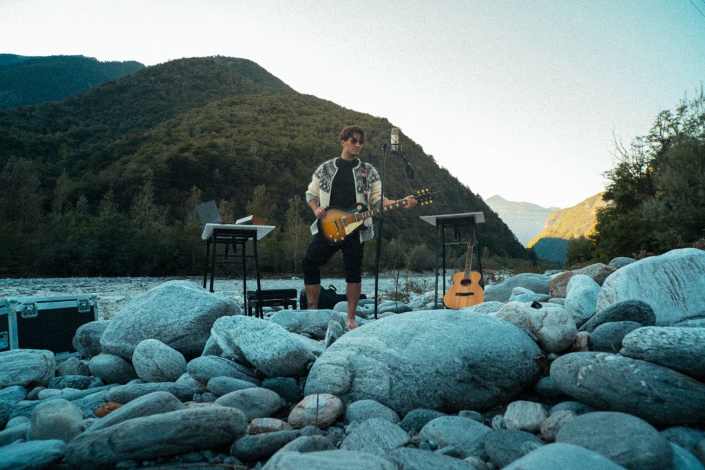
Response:
M76 330L97 319L95 294L0 299L0 352L21 348L78 355L72 344Z

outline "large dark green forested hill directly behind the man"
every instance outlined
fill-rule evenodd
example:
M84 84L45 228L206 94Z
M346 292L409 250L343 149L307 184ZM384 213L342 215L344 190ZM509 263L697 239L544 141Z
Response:
M350 123L367 131L361 158L381 171L386 119L302 95L252 61L225 57L171 61L62 102L0 112L8 188L0 276L200 274L195 205L213 199L226 219L254 214L275 224L262 265L296 272L310 222L305 188L321 162L340 155L338 132ZM384 267L432 266L435 230L419 219L431 213L482 211L485 255L532 258L481 198L403 138L416 180L388 159L386 195L437 193L432 205L386 217Z

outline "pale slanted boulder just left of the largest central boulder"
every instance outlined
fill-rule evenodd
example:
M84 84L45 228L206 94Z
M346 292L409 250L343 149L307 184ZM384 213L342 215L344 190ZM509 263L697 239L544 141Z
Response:
M216 320L212 328L223 352L242 355L267 377L302 377L315 360L309 347L280 325L255 317Z

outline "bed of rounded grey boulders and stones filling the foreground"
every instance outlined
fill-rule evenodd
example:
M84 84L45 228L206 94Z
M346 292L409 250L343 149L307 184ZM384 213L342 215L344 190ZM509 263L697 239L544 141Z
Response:
M0 470L705 469L705 251L517 275L457 311L361 301L350 332L344 302L255 318L237 289L133 280L80 357L0 353Z

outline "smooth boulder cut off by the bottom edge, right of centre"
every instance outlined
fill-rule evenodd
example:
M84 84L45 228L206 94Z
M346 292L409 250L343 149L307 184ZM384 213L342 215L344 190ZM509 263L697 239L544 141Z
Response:
M556 442L542 445L503 470L625 470L607 457L580 445Z

